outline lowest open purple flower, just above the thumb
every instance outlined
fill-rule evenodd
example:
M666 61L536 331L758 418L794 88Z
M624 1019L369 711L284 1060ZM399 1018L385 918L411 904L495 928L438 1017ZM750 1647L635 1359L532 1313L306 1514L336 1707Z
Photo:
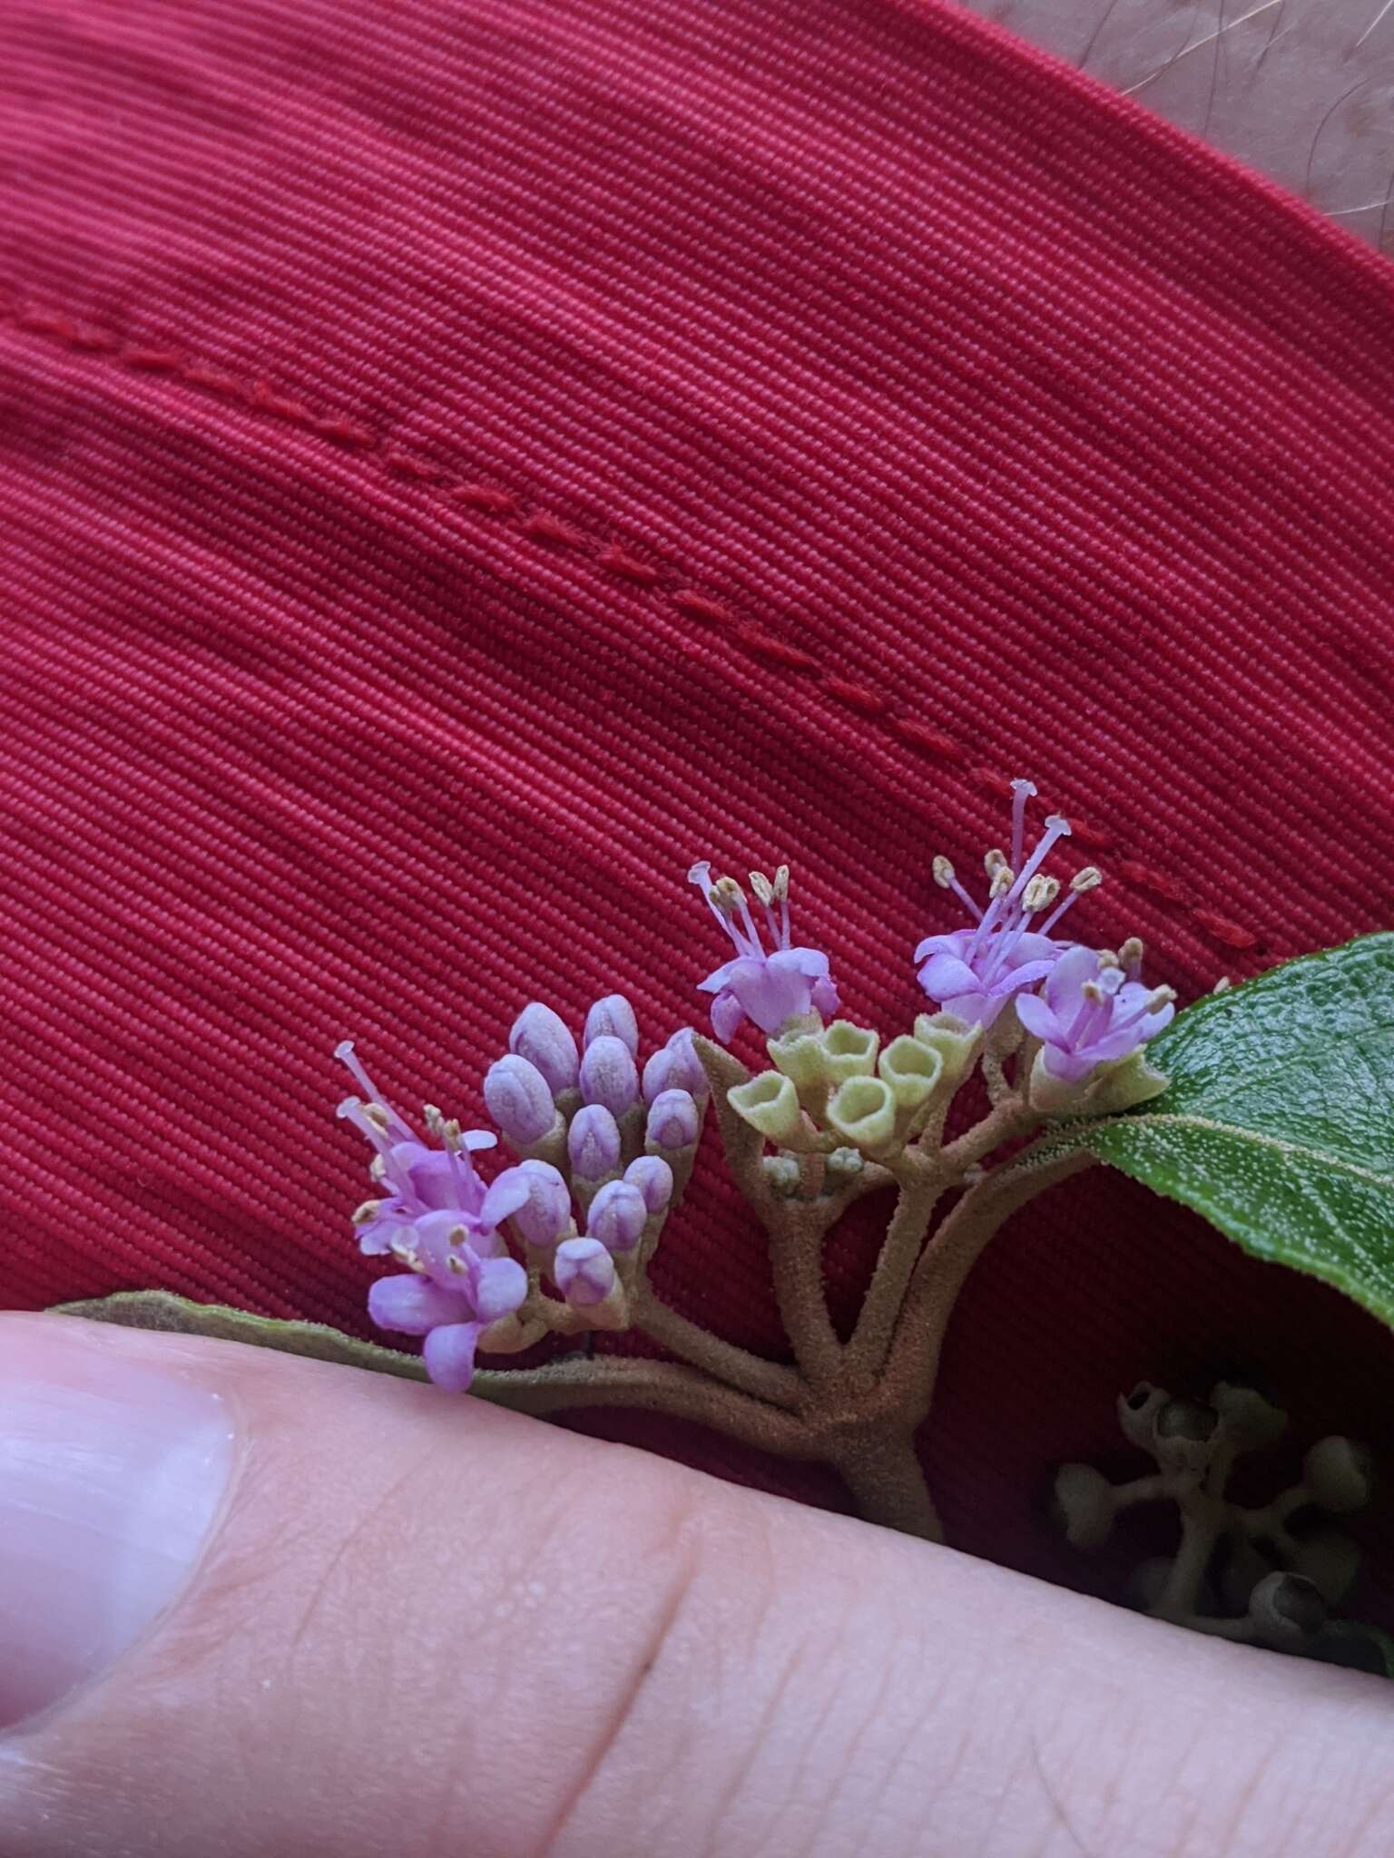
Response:
M413 1269L370 1288L368 1315L379 1328L424 1336L431 1380L463 1394L480 1334L522 1304L528 1273L517 1258L481 1258L450 1217L431 1213L418 1223Z

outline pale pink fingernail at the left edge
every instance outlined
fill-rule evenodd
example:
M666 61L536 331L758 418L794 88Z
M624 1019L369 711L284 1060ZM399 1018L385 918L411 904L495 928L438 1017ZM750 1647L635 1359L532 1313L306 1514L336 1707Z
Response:
M0 1730L106 1670L178 1598L232 1462L225 1401L67 1323L0 1325Z

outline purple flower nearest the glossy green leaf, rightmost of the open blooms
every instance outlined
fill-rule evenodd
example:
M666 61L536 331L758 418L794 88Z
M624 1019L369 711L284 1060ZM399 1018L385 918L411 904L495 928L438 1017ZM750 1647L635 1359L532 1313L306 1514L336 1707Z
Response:
M1017 1013L1041 1040L1041 1066L1059 1083L1078 1083L1098 1065L1128 1057L1177 1009L1169 987L1130 981L1117 957L1071 948L1050 970L1041 994L1017 1000Z

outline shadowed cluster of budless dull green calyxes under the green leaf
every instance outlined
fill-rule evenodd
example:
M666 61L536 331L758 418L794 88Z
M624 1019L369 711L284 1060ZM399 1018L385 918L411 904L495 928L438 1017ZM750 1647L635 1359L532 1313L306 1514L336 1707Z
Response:
M1175 1503L1180 1550L1141 1563L1132 1579L1136 1605L1216 1637L1344 1657L1349 1629L1331 1622L1331 1609L1355 1585L1361 1555L1348 1535L1318 1518L1364 1509L1366 1447L1322 1438L1303 1460L1301 1483L1271 1503L1245 1507L1227 1496L1236 1459L1271 1446L1286 1425L1288 1416L1253 1388L1219 1382L1208 1401L1195 1401L1143 1380L1119 1399L1119 1427L1152 1457L1156 1473L1111 1485L1089 1464L1061 1466L1059 1525L1074 1548L1097 1550L1134 1505Z

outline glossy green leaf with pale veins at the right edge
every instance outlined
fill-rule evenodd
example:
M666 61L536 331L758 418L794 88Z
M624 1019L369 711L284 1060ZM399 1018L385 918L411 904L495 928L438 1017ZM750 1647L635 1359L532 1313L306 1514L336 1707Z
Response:
M1210 994L1147 1057L1160 1096L1033 1159L1087 1150L1394 1327L1394 935Z

